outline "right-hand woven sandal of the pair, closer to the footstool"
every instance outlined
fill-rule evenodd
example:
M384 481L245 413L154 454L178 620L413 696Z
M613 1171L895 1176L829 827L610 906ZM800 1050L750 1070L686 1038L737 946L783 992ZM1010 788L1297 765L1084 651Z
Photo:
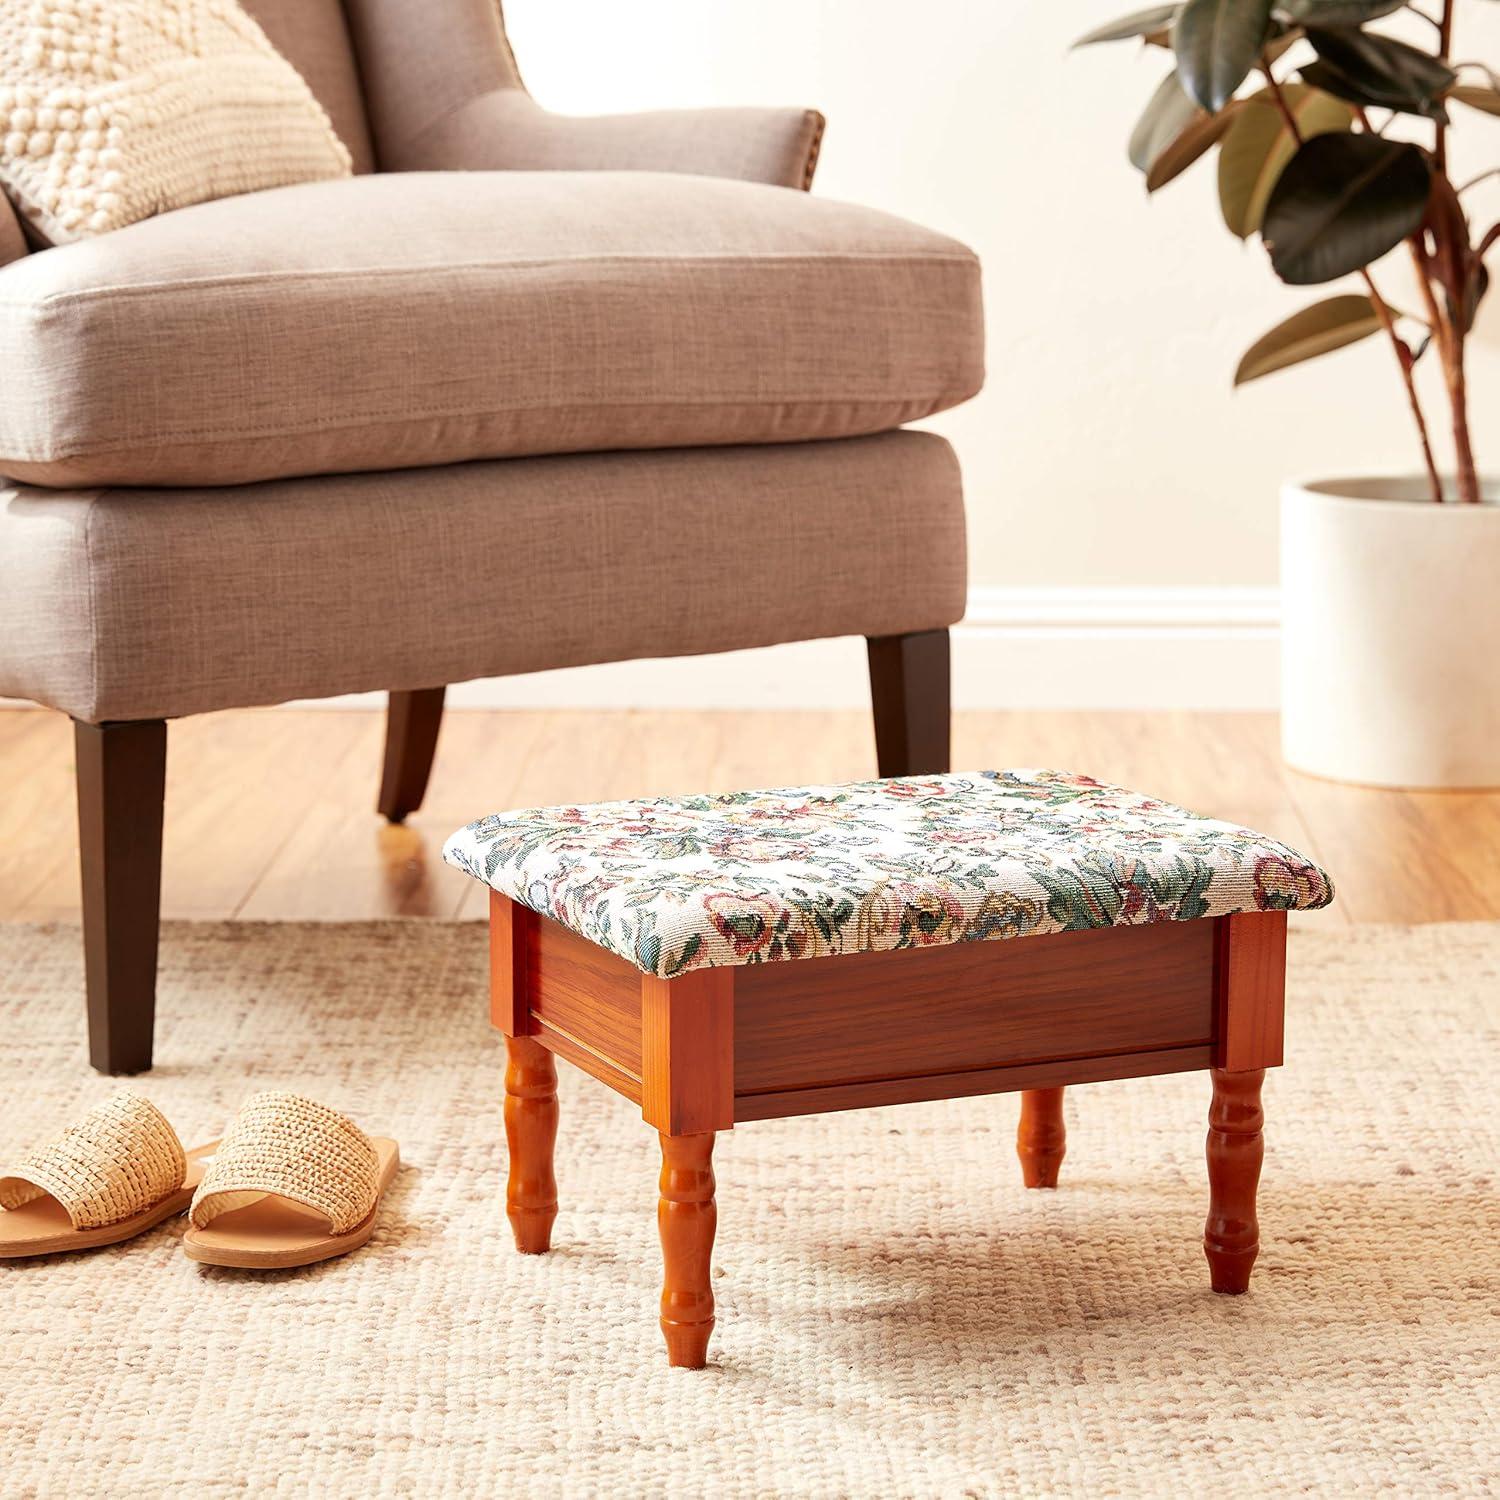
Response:
M400 1166L393 1140L296 1094L246 1100L198 1184L183 1251L208 1266L273 1270L357 1250Z

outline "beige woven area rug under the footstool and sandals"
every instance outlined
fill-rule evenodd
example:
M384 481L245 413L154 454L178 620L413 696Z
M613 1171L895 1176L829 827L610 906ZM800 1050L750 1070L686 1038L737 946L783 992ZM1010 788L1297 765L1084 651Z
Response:
M556 1250L518 1257L477 926L178 926L192 1144L255 1088L396 1136L372 1244L254 1275L178 1226L0 1268L6 1496L1478 1494L1500 1470L1500 927L1298 930L1263 1251L1215 1298L1202 1076L722 1137L712 1366L656 1328L657 1144L562 1066ZM0 928L0 1155L114 1084L76 928Z

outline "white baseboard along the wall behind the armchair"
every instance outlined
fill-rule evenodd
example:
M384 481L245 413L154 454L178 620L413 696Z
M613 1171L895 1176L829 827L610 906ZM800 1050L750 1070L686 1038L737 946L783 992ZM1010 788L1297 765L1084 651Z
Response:
M954 706L1274 710L1278 650L1275 588L976 588L952 632ZM448 692L453 708L866 708L868 700L856 638L488 678ZM382 702L381 693L316 700Z

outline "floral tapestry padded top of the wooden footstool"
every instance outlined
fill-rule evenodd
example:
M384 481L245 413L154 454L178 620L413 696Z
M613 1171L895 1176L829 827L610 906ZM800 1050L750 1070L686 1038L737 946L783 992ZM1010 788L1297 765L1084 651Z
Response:
M663 978L1334 898L1287 844L1064 771L495 813L442 856Z

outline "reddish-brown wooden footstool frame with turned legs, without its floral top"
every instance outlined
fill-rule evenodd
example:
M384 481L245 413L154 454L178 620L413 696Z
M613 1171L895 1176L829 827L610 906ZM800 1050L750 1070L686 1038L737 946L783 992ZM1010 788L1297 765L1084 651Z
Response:
M1017 1152L1058 1184L1070 1083L1208 1068L1215 1292L1258 1250L1260 1086L1281 1062L1286 912L698 969L675 980L490 892L492 1022L506 1035L507 1214L550 1246L554 1056L640 1106L662 1140L662 1332L700 1368L714 1328L714 1136L746 1120L1022 1094Z

